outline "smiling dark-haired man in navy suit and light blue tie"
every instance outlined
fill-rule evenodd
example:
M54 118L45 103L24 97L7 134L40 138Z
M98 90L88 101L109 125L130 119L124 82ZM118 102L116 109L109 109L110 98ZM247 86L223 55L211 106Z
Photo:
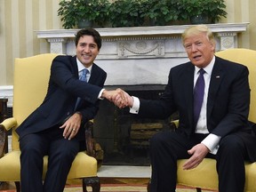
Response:
M16 130L20 136L21 191L63 191L80 144L85 143L84 124L96 115L100 99L118 92L102 89L107 73L93 63L100 47L96 30L81 29L76 34L76 56L59 55L52 60L43 103ZM49 158L43 182L45 155Z

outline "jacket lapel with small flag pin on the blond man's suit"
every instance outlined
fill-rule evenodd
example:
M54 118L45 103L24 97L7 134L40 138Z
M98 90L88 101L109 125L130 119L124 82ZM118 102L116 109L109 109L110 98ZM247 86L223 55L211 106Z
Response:
M225 78L225 71L222 68L221 62L216 57L214 67L212 68L212 76L209 85L208 100L207 100L207 119L212 114L212 108L214 106L216 94L219 91L220 84Z

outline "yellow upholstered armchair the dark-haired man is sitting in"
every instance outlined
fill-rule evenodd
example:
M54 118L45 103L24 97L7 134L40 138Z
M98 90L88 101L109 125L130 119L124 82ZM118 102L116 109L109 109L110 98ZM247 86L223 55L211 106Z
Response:
M15 182L20 191L20 148L15 129L44 100L50 77L53 58L57 54L46 53L24 59L16 59L13 84L13 117L0 124L0 181ZM89 127L92 127L92 123ZM6 132L12 129L12 151L4 154L7 146ZM87 137L91 137L86 130ZM79 152L68 173L68 180L81 179L83 191L91 186L93 192L100 192L100 179L97 176L97 160L94 158L92 138L86 138L87 151ZM88 155L87 155L88 154ZM89 156L90 155L90 156ZM47 156L44 156L44 180L47 169Z

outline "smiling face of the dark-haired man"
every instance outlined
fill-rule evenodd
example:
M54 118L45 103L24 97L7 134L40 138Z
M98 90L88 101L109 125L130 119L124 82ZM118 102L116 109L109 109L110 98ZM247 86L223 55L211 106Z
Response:
M89 68L99 54L100 49L94 42L92 36L81 36L76 45L76 57L84 65Z

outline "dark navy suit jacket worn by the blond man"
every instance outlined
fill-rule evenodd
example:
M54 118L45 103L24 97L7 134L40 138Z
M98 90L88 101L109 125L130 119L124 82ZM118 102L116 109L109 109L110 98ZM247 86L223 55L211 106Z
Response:
M167 118L178 111L180 121L177 131L193 137L194 71L191 62L171 68L161 99L140 99L139 116ZM248 75L245 66L216 57L208 92L207 128L221 138L231 133L239 135L244 140L250 160L255 161L256 137L251 134L252 128L247 120L250 104Z

